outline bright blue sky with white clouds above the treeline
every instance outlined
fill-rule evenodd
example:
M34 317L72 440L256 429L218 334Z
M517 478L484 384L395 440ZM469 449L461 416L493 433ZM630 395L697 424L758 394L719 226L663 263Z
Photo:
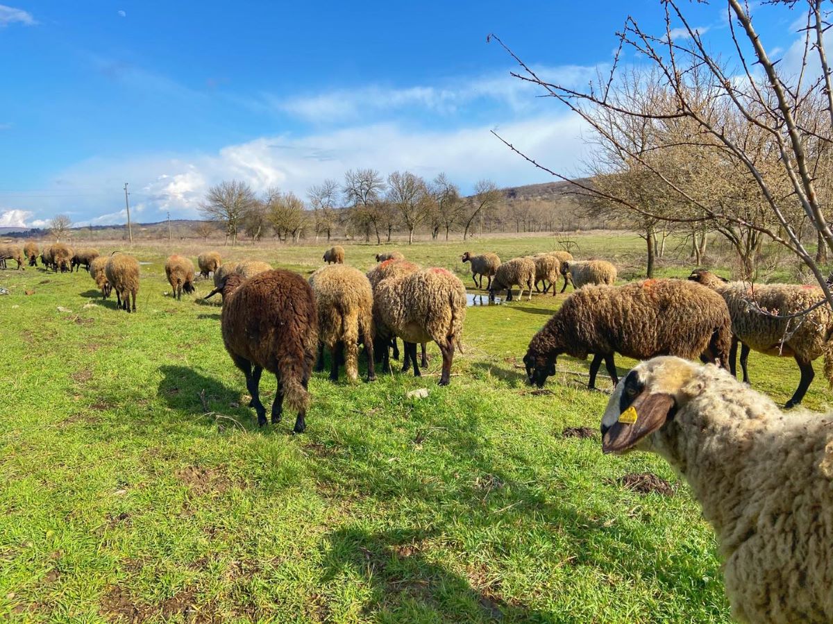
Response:
M302 197L351 167L445 171L464 192L549 178L491 136L581 172L581 123L509 77L496 32L580 86L611 62L628 12L659 2L20 2L0 0L0 226L196 217L244 179ZM720 51L723 3L691 7ZM796 15L756 11L789 51ZM777 52L777 50L776 50Z

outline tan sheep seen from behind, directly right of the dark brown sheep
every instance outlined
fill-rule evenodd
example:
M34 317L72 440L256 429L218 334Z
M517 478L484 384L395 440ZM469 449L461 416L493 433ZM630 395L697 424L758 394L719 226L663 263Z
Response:
M317 371L324 370L324 347L332 354L330 379L338 381L344 352L347 379L358 379L359 343L365 346L367 381L376 379L373 361L373 291L367 276L346 265L321 267L309 278L318 308Z

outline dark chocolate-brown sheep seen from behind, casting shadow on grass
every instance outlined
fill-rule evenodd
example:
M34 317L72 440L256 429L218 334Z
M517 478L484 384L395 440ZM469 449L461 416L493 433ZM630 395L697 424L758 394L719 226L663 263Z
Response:
M239 273L222 278L222 342L232 362L246 375L252 395L249 407L257 412L257 424L266 425L266 408L260 400L263 369L277 377L272 403L272 424L281 421L283 401L297 410L294 431L307 427L307 384L318 342L315 295L307 281L289 271L275 269L246 279Z

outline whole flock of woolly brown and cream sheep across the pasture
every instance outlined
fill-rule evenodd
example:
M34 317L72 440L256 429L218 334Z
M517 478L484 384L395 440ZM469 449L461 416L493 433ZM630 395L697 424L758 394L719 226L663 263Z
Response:
M259 395L263 370L277 377L272 422L283 402L297 411L294 431L303 432L307 385L323 351L331 352L330 377L343 363L358 377L359 347L367 357L367 381L376 364L390 370L397 337L404 343L403 372L420 375L416 345L435 342L442 355L440 385L450 381L466 318L466 289L446 268L422 268L401 253L377 255L367 274L344 262L340 246L324 254L327 265L309 279L272 269L265 262L223 263L216 252L197 259L202 277L213 274L222 295L222 337L235 366L246 376L249 406L267 422ZM0 262L37 263L37 247L0 247ZM100 257L58 243L41 254L53 270L86 266L102 296L117 292L118 307L136 311L139 264L122 253ZM656 452L691 484L726 557L726 591L734 615L744 622L833 620L833 418L802 411L787 416L748 386L751 349L795 357L801 382L786 407L804 397L812 362L823 356L833 383L833 314L816 287L776 284L752 288L726 282L706 270L687 280L647 279L616 286L616 267L599 260L577 262L566 252L544 252L501 262L494 253L466 252L475 287L494 300L512 287L556 293L559 278L576 289L532 337L524 357L528 381L543 386L561 354L592 354L589 387L604 361L616 386L602 419L604 452ZM167 258L165 272L177 299L193 292L195 269L186 257ZM132 297L132 307L128 304ZM804 314L803 311L810 310ZM743 380L736 380L741 347ZM620 382L614 354L642 362ZM700 358L713 366L696 366Z

